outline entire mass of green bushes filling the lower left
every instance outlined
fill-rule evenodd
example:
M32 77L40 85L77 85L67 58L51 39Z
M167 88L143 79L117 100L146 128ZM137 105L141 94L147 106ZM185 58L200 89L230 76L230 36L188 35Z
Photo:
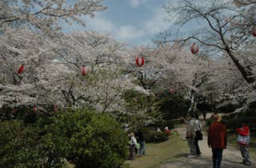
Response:
M0 167L120 167L127 154L121 126L93 110L0 122L0 137Z

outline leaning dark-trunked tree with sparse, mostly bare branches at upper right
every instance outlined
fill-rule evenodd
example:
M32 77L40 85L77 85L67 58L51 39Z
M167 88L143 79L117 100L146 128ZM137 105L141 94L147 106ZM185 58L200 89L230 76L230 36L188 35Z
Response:
M202 5L203 4L203 5ZM251 7L255 6L251 3ZM255 9L255 7L254 7ZM205 50L211 51L214 54L216 51L229 56L234 66L236 66L242 77L248 84L255 82L255 72L250 65L245 64L246 57L241 56L241 51L244 50L244 41L251 42L250 29L244 29L240 26L239 29L232 25L232 22L242 19L242 9L234 6L229 1L209 1L200 3L200 1L183 0L178 3L178 6L167 6L166 11L169 14L177 14L176 21L181 27L186 24L197 24L200 27L198 30L191 30L187 37L176 36L175 38L167 39L166 42L174 41L197 41L205 46ZM251 15L251 17L254 17ZM250 22L250 27L253 26ZM241 29L246 30L246 34L241 34ZM250 36L250 37L249 37ZM244 40L242 40L244 39Z

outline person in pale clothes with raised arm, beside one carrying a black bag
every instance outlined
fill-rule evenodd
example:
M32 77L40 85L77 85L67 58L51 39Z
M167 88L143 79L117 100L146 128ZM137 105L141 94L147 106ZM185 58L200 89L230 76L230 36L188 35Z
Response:
M187 144L190 147L190 154L188 155L187 158L195 158L196 150L194 145L194 138L195 138L196 122L195 122L194 114L191 114L191 116L187 120L185 118L181 118L181 119L187 123L186 139L187 139Z

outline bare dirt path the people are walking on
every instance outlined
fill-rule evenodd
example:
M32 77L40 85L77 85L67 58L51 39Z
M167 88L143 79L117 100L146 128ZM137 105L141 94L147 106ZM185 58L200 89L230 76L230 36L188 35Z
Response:
M185 139L186 127L185 125L179 126L177 129L178 133L183 140ZM186 158L188 154L179 154L177 160L174 162L167 162L158 168L211 168L212 167L212 152L207 145L207 137L204 134L203 140L199 141L200 150L202 155L198 158ZM189 152L189 148L188 148ZM243 168L243 167L256 167L253 163L252 166L243 166L240 164L242 157L238 148L227 146L227 149L223 151L222 168Z

